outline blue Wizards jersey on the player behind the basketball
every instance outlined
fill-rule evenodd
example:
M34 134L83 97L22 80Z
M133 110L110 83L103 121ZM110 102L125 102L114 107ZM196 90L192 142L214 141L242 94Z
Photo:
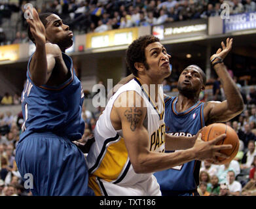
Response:
M204 103L198 101L188 110L177 112L177 97L166 97L164 102L166 112L164 121L168 135L192 137L204 127ZM190 161L172 169L156 172L155 176L162 195L175 195L196 191L199 183L199 171L200 161Z

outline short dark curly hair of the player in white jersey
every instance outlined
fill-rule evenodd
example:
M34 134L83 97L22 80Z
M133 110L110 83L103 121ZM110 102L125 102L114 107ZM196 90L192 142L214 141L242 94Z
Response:
M144 35L134 40L126 50L126 63L134 76L137 76L137 69L134 63L143 63L146 69L149 69L145 56L145 48L153 42L160 42L160 40L153 35Z

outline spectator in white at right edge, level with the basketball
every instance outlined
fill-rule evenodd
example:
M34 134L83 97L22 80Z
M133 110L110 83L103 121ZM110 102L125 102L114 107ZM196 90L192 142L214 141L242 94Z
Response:
M255 156L256 156L255 140L249 140L248 150L246 153L244 153L244 157L242 158L241 169L250 169Z

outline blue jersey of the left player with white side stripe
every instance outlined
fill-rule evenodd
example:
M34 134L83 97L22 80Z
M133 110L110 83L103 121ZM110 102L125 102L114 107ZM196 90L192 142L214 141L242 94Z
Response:
M31 133L54 133L70 140L82 138L84 121L81 117L84 94L73 69L71 57L62 53L70 78L57 87L36 86L31 80L29 64L27 81L22 92L24 124L20 141ZM29 63L31 58L29 59Z

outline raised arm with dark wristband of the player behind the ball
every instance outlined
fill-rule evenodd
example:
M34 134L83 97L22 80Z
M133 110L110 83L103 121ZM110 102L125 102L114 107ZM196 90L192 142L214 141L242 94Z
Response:
M227 39L227 46L225 46L224 42L221 42L222 49L219 48L216 54L213 54L210 58L215 72L220 78L227 100L221 103L209 101L204 105L204 119L207 125L215 122L229 121L244 110L242 95L223 63L223 59L232 48L232 40Z

